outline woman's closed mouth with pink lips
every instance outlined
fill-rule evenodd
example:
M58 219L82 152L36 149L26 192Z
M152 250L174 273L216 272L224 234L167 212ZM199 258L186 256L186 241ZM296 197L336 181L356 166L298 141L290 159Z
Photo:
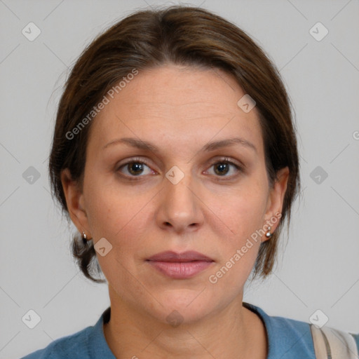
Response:
M199 252L161 252L146 261L163 275L174 279L188 279L201 273L215 261Z

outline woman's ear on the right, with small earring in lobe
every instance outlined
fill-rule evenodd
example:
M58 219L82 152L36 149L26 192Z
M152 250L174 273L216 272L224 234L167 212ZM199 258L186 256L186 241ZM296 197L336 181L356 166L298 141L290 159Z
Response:
M278 213L282 212L283 201L285 196L285 191L287 190L287 182L289 178L289 168L285 167L277 172L277 179L273 183L273 187L269 189L269 198L266 207L266 214L264 216L265 222L271 222L273 217L278 217ZM271 232L275 231L279 220L276 221L275 224L271 225ZM269 238L264 238L266 241Z

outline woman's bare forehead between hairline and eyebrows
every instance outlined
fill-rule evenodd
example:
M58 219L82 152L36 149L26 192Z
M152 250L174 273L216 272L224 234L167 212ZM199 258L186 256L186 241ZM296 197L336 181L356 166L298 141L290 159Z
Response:
M246 113L238 107L244 95L219 69L177 65L147 69L113 99L108 97L109 103L93 121L89 143L98 148L130 136L195 149L211 139L239 136L262 151L256 108Z

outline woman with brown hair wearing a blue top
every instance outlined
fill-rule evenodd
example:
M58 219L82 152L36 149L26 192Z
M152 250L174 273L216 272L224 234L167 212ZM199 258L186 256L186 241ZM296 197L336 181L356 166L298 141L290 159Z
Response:
M175 6L104 32L69 76L49 168L111 306L25 358L335 358L339 332L243 303L250 273L271 273L299 163L283 83L238 27ZM356 358L359 334L339 334L335 355Z

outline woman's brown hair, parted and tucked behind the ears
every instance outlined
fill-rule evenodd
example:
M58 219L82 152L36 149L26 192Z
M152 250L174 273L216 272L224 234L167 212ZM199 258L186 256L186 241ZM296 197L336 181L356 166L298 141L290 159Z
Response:
M265 278L273 269L278 236L299 190L297 140L290 100L276 68L263 50L235 25L202 8L171 6L157 11L138 11L101 34L83 51L65 84L57 111L50 153L50 184L62 210L69 215L62 189L61 171L69 168L81 186L91 122L76 131L107 91L134 69L164 63L222 69L231 74L256 102L264 139L266 170L270 184L276 172L290 170L282 219L269 241L264 241L255 263L255 276ZM87 117L88 118L88 117ZM84 123L84 122L83 122ZM69 138L71 137L71 138ZM83 274L95 282L96 265L92 241L74 237L74 257Z

